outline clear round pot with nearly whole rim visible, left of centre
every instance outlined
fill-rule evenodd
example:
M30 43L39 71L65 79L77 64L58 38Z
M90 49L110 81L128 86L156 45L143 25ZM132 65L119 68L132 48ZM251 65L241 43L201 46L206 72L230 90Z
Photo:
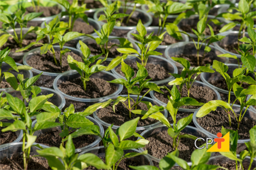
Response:
M66 82L68 80L72 80L72 79L80 78L80 77L81 77L80 74L76 70L69 70L69 71L63 72L55 78L55 80L53 82L53 88L62 96L66 97L68 99L80 101L80 102L98 102L98 101L103 100L104 98L116 96L123 90L123 85L115 84L115 86L117 87L117 91L115 91L113 94L111 94L109 96L104 96L101 98L77 98L77 97L72 97L68 94L65 94L65 93L61 92L61 90L59 90L58 87L59 87L59 84L61 84L61 82ZM112 74L111 72L101 71L101 72L92 74L90 76L90 78L101 78L105 81L112 81L112 80L117 79L118 77L115 76L114 74Z

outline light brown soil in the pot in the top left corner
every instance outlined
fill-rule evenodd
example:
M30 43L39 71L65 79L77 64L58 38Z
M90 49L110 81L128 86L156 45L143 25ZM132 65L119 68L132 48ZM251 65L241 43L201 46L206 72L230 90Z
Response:
M35 12L33 6L26 8L26 10L27 10L26 13ZM37 9L36 9L36 12L38 12ZM58 8L57 5L53 6L53 7L39 6L39 12L43 12L43 14L40 17L48 17L48 16L53 16L53 15L59 14L61 12L61 10Z

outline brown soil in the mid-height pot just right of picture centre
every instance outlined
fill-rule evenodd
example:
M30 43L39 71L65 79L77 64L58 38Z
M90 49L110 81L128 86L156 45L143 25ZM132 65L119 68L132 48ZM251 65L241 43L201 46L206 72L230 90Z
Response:
M172 90L172 86L167 86L170 90ZM179 86L177 87L179 92L180 88ZM161 89L164 94L156 92L154 95L158 100L164 103L168 103L168 95L170 96L170 93L166 89ZM188 89L186 88L186 85L182 86L182 93L181 93L181 98L182 97L187 97L188 96ZM212 90L209 90L208 88L202 87L202 86L192 86L190 88L190 93L189 93L190 98L194 98L198 102L201 103L207 103L211 100L217 100L217 96L213 93ZM185 108L185 109L197 109L201 106L181 106L180 108Z

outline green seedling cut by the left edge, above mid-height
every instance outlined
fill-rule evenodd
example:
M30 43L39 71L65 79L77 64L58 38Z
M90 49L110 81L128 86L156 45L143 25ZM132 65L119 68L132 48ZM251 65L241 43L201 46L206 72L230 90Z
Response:
M10 86L12 86L12 88L17 90L18 82L17 82L15 76L12 73L10 73L9 71L15 70L16 72L19 72L19 70L31 70L32 67L16 66L16 63L14 62L14 60L8 56L9 52L10 52L10 49L8 50L8 47L5 48L4 50L0 51L0 84L3 80L3 78L5 78L6 82L8 82L10 84ZM3 62L5 62L6 64L8 64L11 67L6 72L2 72L2 63Z

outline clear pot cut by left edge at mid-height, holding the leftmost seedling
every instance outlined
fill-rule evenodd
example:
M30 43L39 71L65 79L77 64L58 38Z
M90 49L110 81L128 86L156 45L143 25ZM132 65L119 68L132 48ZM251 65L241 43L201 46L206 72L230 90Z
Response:
M23 64L16 63L16 66L23 66ZM2 62L2 73L8 71L9 68L11 68L11 66L9 64L6 64L5 62ZM16 77L17 82L19 82L18 78L17 78L18 74L23 74L24 78L33 77L33 73L32 73L31 70L19 70L19 72L16 72L15 70L10 70L9 72L12 73L14 75L14 77ZM3 79L2 81L6 82L5 79ZM12 87L10 87L10 88L0 88L0 92L4 92L4 91L10 90L10 89L12 89Z

